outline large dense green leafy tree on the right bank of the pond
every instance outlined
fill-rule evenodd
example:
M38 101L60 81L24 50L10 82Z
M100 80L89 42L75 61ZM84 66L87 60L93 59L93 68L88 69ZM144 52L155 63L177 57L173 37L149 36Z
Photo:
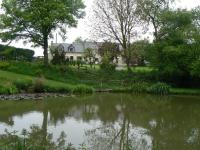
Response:
M151 65L158 69L159 78L178 86L192 83L191 66L200 57L198 27L194 14L187 10L165 11L158 39L147 51Z

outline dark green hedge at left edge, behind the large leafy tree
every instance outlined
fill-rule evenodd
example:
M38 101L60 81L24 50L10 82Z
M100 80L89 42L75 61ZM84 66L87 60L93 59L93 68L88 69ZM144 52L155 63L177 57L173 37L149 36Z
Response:
M32 61L35 52L30 49L16 48L0 44L0 60Z

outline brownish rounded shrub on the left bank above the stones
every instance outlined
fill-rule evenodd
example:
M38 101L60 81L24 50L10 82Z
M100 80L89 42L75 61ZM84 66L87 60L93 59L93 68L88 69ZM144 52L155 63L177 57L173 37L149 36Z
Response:
M33 91L36 93L45 92L44 78L36 78L33 84Z

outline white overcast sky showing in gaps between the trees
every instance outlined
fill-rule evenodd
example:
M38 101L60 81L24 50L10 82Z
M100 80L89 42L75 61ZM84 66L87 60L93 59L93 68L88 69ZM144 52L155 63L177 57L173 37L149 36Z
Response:
M0 0L1 3L2 0ZM191 9L196 6L200 6L200 0L176 0L176 7L179 8L186 8ZM84 19L79 20L77 28L70 28L67 32L67 39L62 41L60 37L58 37L58 42L73 42L77 37L82 37L83 39L87 39L89 37L89 30L88 30L88 16L91 14L91 9L93 5L93 0L84 0L86 5L86 16ZM56 33L55 33L56 34ZM55 42L56 39L53 39ZM24 45L23 41L13 42L11 43L12 46L21 47L21 48L30 48L35 50L36 56L42 56L42 49L41 48L32 48L31 44Z

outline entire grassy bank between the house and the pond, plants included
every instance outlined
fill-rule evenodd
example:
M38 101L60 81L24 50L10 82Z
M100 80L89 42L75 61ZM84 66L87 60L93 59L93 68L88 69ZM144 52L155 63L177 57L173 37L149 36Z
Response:
M78 69L75 66L46 67L40 63L1 62L0 89L3 91L0 90L0 93L91 93L95 90L161 95L200 94L200 89L170 88L160 84L152 71L149 67L137 67L132 72L109 72L98 67L92 69L84 66Z

